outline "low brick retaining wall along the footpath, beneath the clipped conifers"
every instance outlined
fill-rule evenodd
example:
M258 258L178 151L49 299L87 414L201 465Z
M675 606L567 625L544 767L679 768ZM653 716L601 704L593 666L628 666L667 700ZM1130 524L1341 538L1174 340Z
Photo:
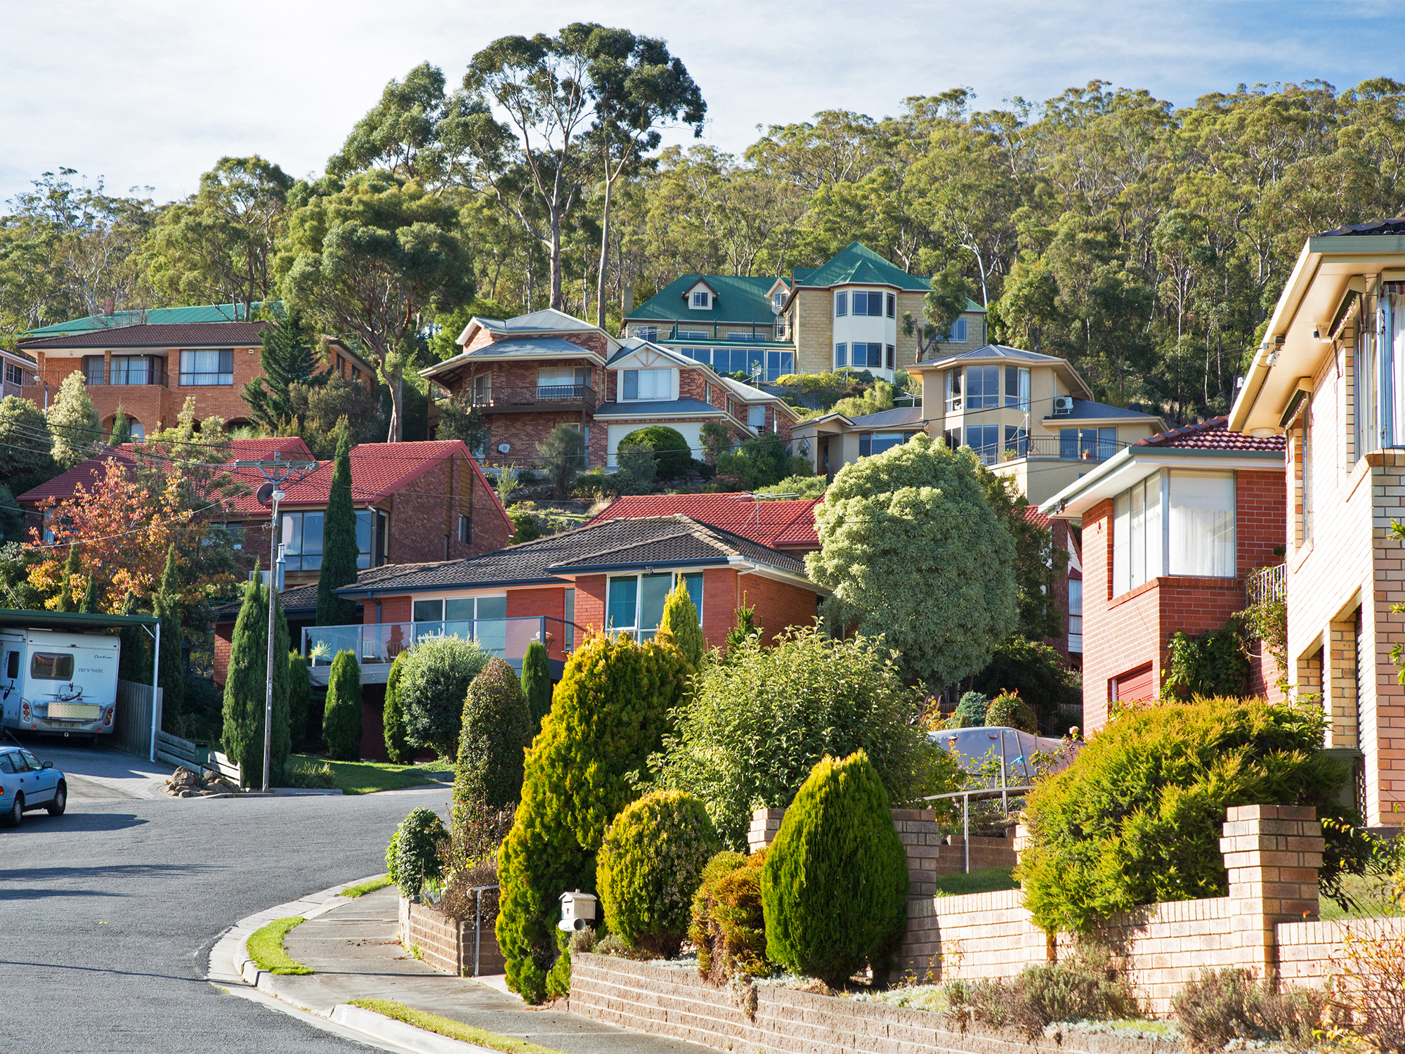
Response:
M614 956L572 956L570 1013L597 1022L733 1054L805 1051L839 1054L1016 1054L1030 1048L1079 1054L1172 1054L1179 1040L1052 1029L1027 1040L1016 1030L947 1026L946 1015L870 999L846 999L784 985L754 988L747 1013L745 989L718 989L694 971Z

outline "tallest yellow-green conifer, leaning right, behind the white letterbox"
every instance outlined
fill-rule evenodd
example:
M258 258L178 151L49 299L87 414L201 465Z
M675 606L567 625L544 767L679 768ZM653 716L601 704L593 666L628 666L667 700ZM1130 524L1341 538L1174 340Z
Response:
M528 1002L569 991L569 960L558 961L559 897L596 890L596 852L636 795L684 670L674 648L621 634L586 638L562 672L497 857L497 943L507 984Z

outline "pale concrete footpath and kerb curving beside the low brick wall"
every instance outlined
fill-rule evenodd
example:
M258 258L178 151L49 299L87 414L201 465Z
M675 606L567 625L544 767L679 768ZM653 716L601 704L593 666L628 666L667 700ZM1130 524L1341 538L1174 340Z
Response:
M488 1032L530 1040L565 1054L702 1054L708 1047L628 1032L559 1010L538 1010L496 985L450 977L410 956L398 940L393 887L355 899L334 887L242 919L211 950L209 980L235 995L301 1016L316 1027L385 1050L417 1054L481 1051L482 1047L424 1032L351 999L393 999ZM246 940L273 919L305 915L284 946L312 968L302 977L275 977L249 961Z

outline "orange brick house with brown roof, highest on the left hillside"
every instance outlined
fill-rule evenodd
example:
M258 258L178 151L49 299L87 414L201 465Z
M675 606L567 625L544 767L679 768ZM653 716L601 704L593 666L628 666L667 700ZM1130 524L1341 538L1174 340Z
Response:
M171 426L187 398L195 420L214 415L230 427L249 424L244 382L263 375L260 333L273 322L157 322L100 326L66 336L20 341L35 358L20 389L46 409L63 378L77 371L104 430L121 406L132 436ZM371 364L339 340L329 341L327 370L375 391Z

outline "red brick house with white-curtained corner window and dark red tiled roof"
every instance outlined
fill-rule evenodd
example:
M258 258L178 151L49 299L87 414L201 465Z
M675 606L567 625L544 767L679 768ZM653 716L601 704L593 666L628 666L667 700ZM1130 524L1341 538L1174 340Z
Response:
M1281 562L1283 451L1215 417L1134 443L1040 506L1083 524L1085 731L1113 701L1156 696L1170 635L1220 630L1248 606L1245 576ZM1260 651L1249 691L1279 698L1279 676Z

